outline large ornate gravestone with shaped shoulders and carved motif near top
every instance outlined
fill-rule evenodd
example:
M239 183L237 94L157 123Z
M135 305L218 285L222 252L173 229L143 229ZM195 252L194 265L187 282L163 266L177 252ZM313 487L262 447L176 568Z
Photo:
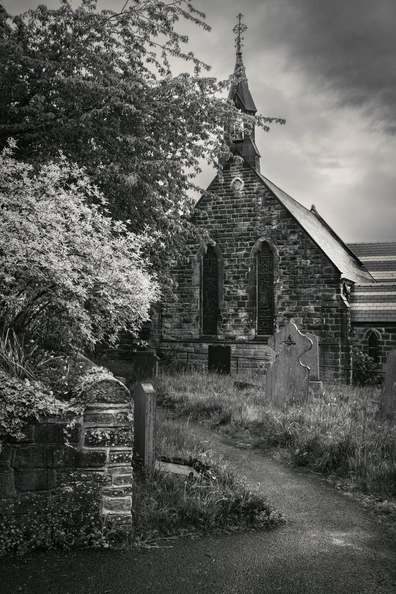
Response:
M277 406L308 400L309 368L300 357L312 348L312 340L289 323L268 340L268 346L277 356L267 371L267 398Z

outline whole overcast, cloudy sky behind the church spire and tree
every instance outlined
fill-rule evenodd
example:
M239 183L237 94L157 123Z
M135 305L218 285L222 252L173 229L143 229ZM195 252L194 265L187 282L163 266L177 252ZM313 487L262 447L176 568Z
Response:
M56 0L4 0L11 14ZM113 8L118 0L102 0ZM78 5L78 2L73 2ZM346 242L396 241L395 0L195 0L211 33L189 24L189 50L226 78L243 14L243 63L259 113L261 172L316 209ZM185 71L185 65L180 71ZM179 74L177 69L174 74ZM199 180L208 185L213 171Z

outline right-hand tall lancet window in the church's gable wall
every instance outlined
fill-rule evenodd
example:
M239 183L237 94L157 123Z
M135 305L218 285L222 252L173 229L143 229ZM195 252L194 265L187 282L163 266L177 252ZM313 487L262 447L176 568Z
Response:
M274 256L263 242L256 260L257 333L274 333Z

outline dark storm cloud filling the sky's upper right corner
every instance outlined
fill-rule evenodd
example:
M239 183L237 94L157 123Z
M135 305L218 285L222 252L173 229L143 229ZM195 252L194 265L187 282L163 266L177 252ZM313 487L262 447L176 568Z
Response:
M261 3L257 3L261 4ZM290 69L396 131L396 2L268 0L265 36Z

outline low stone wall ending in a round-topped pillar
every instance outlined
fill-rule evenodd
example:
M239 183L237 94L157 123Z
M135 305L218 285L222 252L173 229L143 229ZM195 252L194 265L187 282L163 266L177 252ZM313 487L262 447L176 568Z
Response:
M23 433L0 453L1 514L60 508L131 523L133 414L131 394L120 381L94 383L83 415L43 417Z

